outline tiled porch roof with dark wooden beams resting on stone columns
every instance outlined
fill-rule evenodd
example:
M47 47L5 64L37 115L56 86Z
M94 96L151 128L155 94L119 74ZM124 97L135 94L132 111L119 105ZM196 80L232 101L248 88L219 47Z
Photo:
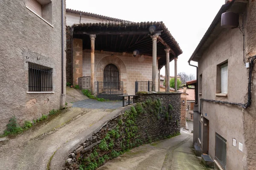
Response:
M157 40L158 68L166 64L165 48L171 48L170 61L182 54L177 41L163 22L80 23L73 25L73 38L83 39L83 48L90 49L89 34L96 34L95 50L127 52L152 56L150 35L161 33Z

